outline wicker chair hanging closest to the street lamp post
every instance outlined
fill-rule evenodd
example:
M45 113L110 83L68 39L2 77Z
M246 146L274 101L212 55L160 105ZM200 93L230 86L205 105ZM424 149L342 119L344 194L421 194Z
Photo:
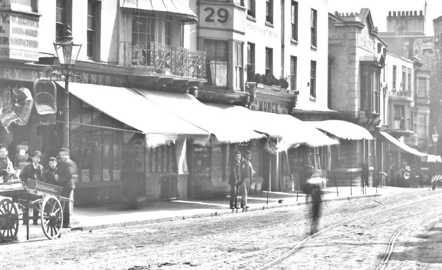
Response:
M57 87L47 78L34 81L35 109L39 115L55 114L57 111Z

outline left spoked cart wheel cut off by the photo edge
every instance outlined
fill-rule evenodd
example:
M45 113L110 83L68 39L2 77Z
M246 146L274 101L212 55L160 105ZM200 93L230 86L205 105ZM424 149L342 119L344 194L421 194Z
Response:
M0 240L11 242L17 239L19 228L18 210L10 199L0 200Z

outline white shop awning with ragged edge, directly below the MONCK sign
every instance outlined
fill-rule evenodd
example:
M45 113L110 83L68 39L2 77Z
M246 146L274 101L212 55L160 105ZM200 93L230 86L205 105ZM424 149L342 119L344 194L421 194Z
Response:
M242 125L248 126L252 130L281 139L278 144L285 149L297 144L318 147L339 143L290 115L250 111L245 107L227 104L205 104L220 111L222 115L228 116L230 121L240 121Z

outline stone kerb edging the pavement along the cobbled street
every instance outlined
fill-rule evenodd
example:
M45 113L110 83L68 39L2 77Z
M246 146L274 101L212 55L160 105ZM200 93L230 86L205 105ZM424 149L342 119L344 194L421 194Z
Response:
M380 197L382 194L376 194L376 195L359 195L359 196L347 196L347 197L336 197L332 199L324 199L323 202L331 202L331 201L339 201L339 200L351 200L351 199L357 199L357 198L367 198L367 197ZM304 199L304 197L303 197ZM260 211L265 209L274 209L274 208L282 208L282 207L291 207L291 206L298 206L298 205L304 205L304 204L311 204L311 201L308 202L295 202L295 203L272 203L270 205L262 206L262 207L253 207L250 206L250 208L247 210L247 212L253 212L253 211ZM211 213L201 213L201 214L193 214L193 215L180 215L175 217L167 217L167 218L161 218L161 219L146 219L146 220L140 220L140 221L126 221L126 222L114 222L114 223L108 223L108 224L100 224L100 225L90 225L90 226L75 226L70 229L63 229L62 234L66 233L75 233L75 232L83 232L83 231L92 231L92 230L101 230L101 229L109 229L109 228L118 228L118 227L128 227L128 226L136 226L136 225L144 225L144 224L153 224L153 223L162 223L162 222L168 222L168 221L179 221L179 220L189 220L189 219L199 219L199 218L208 218L208 217L217 217L217 216L224 216L229 214L240 214L243 213L240 211L231 211L231 210L225 210L222 209L221 211L211 212ZM245 212L244 212L245 213ZM32 238L40 238L45 237L43 232L39 233L32 233L29 234L29 240L32 240Z

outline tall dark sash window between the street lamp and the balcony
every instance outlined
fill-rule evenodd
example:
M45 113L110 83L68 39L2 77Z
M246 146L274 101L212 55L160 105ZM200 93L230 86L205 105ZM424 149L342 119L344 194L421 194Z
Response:
M101 2L87 1L87 56L99 60Z

